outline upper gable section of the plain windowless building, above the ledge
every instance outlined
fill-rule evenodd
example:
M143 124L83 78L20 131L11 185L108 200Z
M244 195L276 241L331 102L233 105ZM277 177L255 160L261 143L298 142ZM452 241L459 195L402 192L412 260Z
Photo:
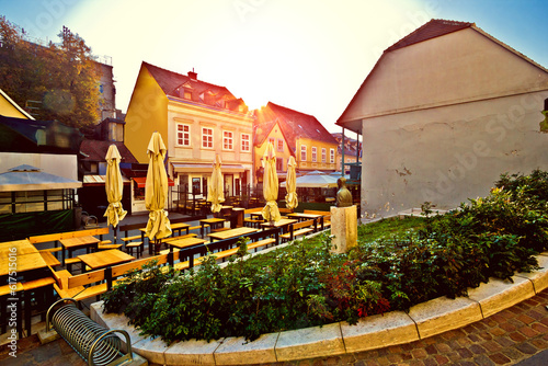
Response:
M548 88L548 75L473 28L383 56L341 118L351 121Z

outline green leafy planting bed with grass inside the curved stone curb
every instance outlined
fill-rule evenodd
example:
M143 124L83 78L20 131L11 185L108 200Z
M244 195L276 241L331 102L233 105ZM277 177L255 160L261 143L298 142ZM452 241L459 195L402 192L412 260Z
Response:
M444 216L358 227L358 245L331 254L327 235L244 260L246 242L221 268L149 266L105 296L142 334L165 342L213 340L321 325L404 310L439 296L466 296L490 277L537 268L548 249L548 175L503 175L490 195Z

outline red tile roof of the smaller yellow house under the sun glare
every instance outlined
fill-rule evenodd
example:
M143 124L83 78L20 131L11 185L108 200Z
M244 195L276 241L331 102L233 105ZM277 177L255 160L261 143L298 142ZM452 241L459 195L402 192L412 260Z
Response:
M298 137L338 144L333 136L331 136L315 116L269 102L266 106L255 111L255 123L253 125L255 145L262 145L264 142L276 122L279 124L279 128L287 144L294 152L296 149L296 139Z

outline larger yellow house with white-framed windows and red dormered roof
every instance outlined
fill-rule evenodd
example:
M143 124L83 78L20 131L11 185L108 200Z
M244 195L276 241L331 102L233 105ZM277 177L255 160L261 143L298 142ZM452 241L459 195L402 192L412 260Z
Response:
M205 195L216 155L227 195L253 183L253 115L227 88L201 81L194 71L181 75L142 62L125 122L125 144L140 163L148 163L152 133L161 134L175 185Z

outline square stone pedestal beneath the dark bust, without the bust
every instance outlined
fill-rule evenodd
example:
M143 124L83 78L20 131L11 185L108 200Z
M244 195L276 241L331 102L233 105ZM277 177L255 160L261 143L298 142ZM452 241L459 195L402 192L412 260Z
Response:
M331 240L333 253L346 253L357 245L357 206L331 206Z

